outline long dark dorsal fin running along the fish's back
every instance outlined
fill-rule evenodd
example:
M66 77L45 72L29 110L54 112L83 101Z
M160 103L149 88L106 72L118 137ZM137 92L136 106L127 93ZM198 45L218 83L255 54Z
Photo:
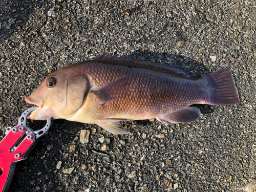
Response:
M118 57L118 54L113 55L112 53L110 54L103 53L103 54L97 55L93 60L114 60L114 61L122 61L122 62L133 62L137 64L151 65L157 68L167 69L172 73L176 73L177 75L185 76L187 78L194 78L195 76L193 72L180 66L164 65L161 63L145 61L144 59L141 59L141 58L133 58L132 56L126 56L126 55L122 55Z

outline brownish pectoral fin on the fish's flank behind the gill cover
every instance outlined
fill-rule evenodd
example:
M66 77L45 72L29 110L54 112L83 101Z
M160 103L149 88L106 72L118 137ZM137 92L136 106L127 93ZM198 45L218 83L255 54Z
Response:
M104 84L102 87L92 93L98 98L98 104L104 104L117 100L125 95L129 89L126 87L130 83L130 78L123 76L114 81Z

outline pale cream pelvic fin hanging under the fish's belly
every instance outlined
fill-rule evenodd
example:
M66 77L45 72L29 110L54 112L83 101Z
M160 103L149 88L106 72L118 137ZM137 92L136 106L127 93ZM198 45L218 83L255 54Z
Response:
M123 126L118 122L99 122L97 125L99 125L104 130L106 130L112 134L115 134L115 135L117 135L117 134L123 135L123 134L130 133L130 132L127 132L123 128Z

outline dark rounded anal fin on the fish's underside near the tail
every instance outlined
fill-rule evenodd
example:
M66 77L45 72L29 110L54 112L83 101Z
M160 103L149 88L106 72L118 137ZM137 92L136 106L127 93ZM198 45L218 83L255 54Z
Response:
M200 117L200 110L195 106L185 106L179 111L174 113L166 113L156 119L169 124L169 123L189 123L197 120Z

